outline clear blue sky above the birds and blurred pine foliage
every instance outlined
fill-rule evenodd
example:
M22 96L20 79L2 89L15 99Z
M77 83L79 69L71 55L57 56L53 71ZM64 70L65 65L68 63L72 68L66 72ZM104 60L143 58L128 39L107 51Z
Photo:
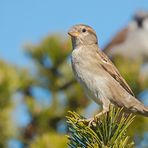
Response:
M148 10L147 0L1 0L0 58L28 66L26 43L38 43L50 33L66 35L77 23L91 25L103 47L139 9Z

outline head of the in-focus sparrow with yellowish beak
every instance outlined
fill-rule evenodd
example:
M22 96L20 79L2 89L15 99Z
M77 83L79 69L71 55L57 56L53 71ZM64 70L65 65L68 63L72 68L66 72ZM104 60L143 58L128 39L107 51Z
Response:
M73 48L81 45L97 44L96 32L87 25L79 24L73 26L68 34L71 36Z

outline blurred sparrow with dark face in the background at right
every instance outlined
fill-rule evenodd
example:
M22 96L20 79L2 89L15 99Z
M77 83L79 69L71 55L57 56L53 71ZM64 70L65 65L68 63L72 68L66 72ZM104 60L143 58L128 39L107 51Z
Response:
M116 55L148 62L148 12L138 11L127 27L119 31L103 51L112 59Z

